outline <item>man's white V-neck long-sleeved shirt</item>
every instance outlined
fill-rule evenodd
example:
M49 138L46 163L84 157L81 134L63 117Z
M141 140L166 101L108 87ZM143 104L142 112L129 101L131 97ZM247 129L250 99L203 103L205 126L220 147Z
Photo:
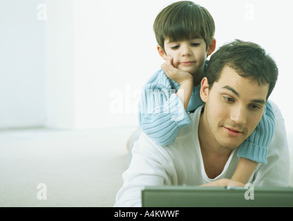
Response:
M289 186L290 160L285 123L278 106L271 101L270 103L274 108L276 129L267 153L267 164L258 164L249 183L254 186ZM205 173L198 141L202 107L191 113L192 125L182 128L173 144L160 146L142 133L133 146L131 164L122 175L124 184L117 193L114 206L142 206L143 186L198 186L231 178L239 161L237 148L231 152L220 175L210 179Z

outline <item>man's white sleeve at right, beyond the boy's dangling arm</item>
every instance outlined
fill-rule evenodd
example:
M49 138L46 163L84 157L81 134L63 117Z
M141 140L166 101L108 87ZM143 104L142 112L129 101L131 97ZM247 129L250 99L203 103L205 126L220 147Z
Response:
M267 153L267 164L259 164L254 174L256 186L290 186L290 157L285 122L278 106L274 108L276 128Z

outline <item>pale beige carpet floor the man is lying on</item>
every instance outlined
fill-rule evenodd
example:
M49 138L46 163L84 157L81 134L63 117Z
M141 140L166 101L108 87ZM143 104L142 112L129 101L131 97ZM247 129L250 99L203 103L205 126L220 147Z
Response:
M133 131L0 131L0 206L113 206Z

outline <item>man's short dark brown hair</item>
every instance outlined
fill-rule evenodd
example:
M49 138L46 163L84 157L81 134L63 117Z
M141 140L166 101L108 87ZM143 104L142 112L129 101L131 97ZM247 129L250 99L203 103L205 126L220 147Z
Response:
M261 46L249 41L236 39L211 55L207 67L209 88L220 79L220 73L225 66L233 68L242 77L251 77L260 86L269 84L267 99L278 79L278 67L272 57Z

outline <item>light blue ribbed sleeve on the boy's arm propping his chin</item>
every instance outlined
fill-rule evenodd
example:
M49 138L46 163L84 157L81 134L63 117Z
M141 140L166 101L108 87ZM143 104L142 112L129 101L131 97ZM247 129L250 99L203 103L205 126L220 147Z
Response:
M158 73L142 90L139 124L155 143L172 144L180 128L191 125L189 114L172 88L168 77Z

